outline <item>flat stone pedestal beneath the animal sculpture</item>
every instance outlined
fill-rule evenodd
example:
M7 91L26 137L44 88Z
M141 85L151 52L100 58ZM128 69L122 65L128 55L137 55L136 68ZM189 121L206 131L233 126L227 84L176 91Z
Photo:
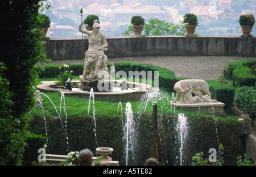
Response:
M199 107L199 112L202 113L210 113L213 115L213 111L214 111L214 115L216 116L225 116L225 112L224 112L224 103L221 102L196 102L196 103L189 103L187 102L183 102L183 103L173 103L170 102L172 105L175 106L175 108L180 109L180 110L185 110L185 111L195 111L197 112Z

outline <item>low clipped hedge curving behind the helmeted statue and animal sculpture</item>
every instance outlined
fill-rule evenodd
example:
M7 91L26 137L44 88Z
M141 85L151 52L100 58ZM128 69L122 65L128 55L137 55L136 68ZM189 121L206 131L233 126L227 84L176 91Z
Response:
M110 64L108 64L110 70ZM118 62L114 64L115 72L125 71L127 77L129 77L129 71L152 71L152 83L154 84L154 71L159 71L159 87L164 88L167 91L175 92L174 85L176 82L182 79L188 78L177 78L175 77L174 71L170 69L161 68L159 66L139 64L133 62ZM57 77L59 72L59 65L50 65L38 67L37 70L40 71L39 77ZM69 69L74 71L73 75L81 75L84 64L73 64L69 65ZM225 103L225 108L233 106L234 99L234 87L223 85L221 83L207 81L210 86L210 92L212 94L212 99L216 99L218 102ZM225 96L224 96L225 95Z

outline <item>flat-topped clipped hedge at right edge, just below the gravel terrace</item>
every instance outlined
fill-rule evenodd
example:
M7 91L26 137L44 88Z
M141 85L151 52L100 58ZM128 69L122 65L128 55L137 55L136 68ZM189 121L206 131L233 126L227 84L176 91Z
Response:
M228 64L224 72L225 78L232 80L234 87L255 86L256 75L251 74L251 65L256 60L235 61Z

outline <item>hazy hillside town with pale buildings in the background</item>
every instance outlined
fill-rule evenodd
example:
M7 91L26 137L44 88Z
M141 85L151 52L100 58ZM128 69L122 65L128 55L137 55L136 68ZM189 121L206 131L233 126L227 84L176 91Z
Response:
M46 3L51 5L46 10L51 18L47 36L54 38L81 37L78 26L90 14L99 16L101 31L108 37L122 36L133 15L141 15L146 22L158 18L177 24L190 12L199 18L197 33L202 36L240 35L239 16L256 16L255 1L250 0L242 4L234 0L48 0Z

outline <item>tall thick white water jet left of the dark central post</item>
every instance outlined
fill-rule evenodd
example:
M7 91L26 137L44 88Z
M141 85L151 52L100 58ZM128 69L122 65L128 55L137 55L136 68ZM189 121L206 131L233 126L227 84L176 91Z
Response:
M126 116L126 124L125 124L125 140L126 140L126 166L128 165L129 153L133 155L133 146L134 146L134 120L133 120L133 110L131 109L131 103L126 103L125 109L125 116Z

